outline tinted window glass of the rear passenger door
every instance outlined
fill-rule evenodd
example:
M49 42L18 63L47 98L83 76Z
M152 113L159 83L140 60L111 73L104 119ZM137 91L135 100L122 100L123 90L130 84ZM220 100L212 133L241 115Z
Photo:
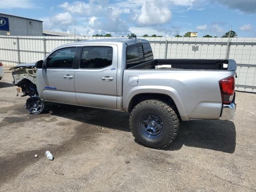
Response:
M113 48L104 46L84 47L80 68L99 69L112 65Z

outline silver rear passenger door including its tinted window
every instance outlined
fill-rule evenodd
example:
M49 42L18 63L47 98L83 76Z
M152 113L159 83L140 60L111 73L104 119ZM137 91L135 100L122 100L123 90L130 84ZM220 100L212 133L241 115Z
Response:
M74 80L78 104L116 109L117 45L80 46L79 55Z

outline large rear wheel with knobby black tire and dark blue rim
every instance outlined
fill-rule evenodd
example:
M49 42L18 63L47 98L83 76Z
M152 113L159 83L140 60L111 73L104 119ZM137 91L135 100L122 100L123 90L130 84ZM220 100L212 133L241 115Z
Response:
M129 124L137 143L157 149L171 144L179 129L174 110L159 100L137 104L130 114Z

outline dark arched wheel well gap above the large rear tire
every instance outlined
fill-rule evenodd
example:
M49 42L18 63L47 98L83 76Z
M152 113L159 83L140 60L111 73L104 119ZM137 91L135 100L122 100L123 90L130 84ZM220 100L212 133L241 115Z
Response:
M176 112L176 114L180 118L178 108L176 107L176 104L174 103L172 98L166 94L159 94L159 93L142 93L142 94L138 94L138 95L134 96L130 100L130 103L128 106L128 112L129 113L132 112L133 108L140 102L145 101L145 100L150 100L150 99L160 100L160 101L168 104L170 107L172 107L172 109Z

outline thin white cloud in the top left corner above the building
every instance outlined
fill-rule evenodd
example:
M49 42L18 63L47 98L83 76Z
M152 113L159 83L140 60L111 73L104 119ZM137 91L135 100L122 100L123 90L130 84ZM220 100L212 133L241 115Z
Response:
M12 9L12 8L23 8L31 9L36 8L35 4L31 0L1 0L0 1L1 9Z

